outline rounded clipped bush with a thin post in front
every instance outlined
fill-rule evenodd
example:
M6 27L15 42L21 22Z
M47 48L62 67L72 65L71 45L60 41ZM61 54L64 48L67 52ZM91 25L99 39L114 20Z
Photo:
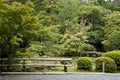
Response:
M105 72L115 72L117 66L115 61L109 57L98 57L95 59L96 70L102 71L103 62L105 62Z

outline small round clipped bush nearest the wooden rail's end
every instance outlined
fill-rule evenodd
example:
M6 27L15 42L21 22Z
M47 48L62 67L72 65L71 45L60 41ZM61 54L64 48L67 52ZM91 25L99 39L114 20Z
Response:
M92 70L92 59L89 57L81 57L77 61L78 70Z

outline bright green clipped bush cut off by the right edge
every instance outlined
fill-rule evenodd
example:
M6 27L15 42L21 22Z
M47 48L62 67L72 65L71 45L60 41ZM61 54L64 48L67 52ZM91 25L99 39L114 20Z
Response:
M117 64L117 69L120 70L120 50L109 51L104 53L102 56L113 59Z

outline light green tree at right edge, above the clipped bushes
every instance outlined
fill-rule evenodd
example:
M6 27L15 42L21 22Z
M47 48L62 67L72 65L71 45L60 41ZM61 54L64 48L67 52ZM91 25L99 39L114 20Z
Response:
M105 50L116 50L120 49L120 12L113 12L111 14L107 14L104 17L105 20L105 38L102 42L104 44Z

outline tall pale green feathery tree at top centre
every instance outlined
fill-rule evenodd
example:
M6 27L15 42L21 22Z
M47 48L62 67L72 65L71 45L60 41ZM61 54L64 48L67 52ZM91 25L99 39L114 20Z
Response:
M59 25L61 34L65 34L70 29L71 24L77 23L78 2L78 0L61 0L57 2L56 13L52 15L52 23Z

